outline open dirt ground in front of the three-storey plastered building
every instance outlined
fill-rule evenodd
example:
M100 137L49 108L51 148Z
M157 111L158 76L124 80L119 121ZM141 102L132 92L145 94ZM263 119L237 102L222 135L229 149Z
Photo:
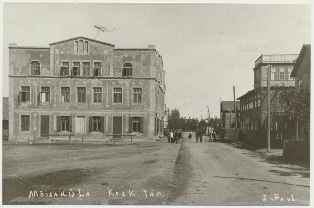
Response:
M165 140L3 143L3 204L168 204L181 193L171 174L178 147Z

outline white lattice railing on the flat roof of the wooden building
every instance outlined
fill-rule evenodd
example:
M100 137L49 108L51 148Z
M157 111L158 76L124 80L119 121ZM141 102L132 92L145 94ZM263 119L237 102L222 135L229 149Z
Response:
M256 61L255 66L261 63L294 63L299 54L289 55L261 55Z

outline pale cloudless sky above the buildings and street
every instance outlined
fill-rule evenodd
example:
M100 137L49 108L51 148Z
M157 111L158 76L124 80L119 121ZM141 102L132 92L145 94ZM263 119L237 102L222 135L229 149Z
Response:
M104 27L113 32L102 32ZM98 34L98 36L97 36ZM311 44L310 4L3 3L3 96L8 46L46 46L84 36L115 47L155 45L165 70L166 108L220 117L219 101L252 90L261 55L299 54Z

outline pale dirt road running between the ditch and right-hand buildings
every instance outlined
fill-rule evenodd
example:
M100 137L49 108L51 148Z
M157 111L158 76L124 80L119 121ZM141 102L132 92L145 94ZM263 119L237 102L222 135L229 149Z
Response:
M176 205L304 205L310 203L309 169L286 164L227 143L185 139L191 166L187 187ZM184 176L181 177L184 177Z

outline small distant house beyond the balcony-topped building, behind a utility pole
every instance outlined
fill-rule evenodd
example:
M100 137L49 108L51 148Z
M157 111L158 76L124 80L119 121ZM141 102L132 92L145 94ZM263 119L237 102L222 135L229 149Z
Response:
M233 101L221 101L221 126L224 129L232 129L236 127L235 108ZM237 127L240 128L240 101L236 101Z

